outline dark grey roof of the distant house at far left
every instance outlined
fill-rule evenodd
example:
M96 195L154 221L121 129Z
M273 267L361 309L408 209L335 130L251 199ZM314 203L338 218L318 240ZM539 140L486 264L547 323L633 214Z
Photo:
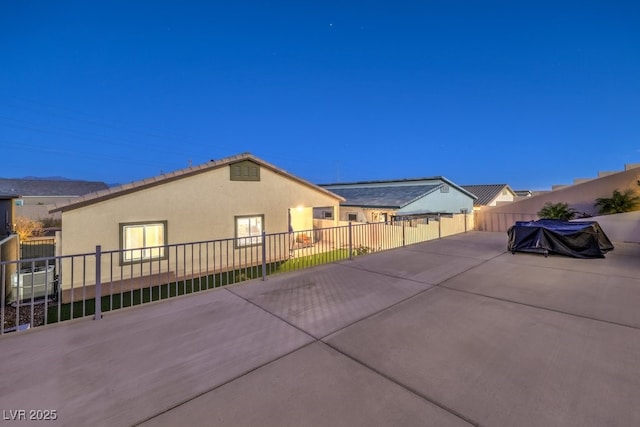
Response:
M109 188L104 182L0 178L0 193L21 197L78 197Z

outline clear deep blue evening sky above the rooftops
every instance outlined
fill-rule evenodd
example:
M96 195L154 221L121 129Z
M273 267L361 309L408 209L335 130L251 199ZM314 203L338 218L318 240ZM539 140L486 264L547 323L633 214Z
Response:
M0 177L251 152L315 183L640 163L634 1L0 0Z

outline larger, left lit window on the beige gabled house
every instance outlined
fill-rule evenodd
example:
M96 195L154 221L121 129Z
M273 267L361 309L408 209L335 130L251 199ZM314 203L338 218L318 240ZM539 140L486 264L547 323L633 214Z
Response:
M167 222L120 224L122 263L165 258Z

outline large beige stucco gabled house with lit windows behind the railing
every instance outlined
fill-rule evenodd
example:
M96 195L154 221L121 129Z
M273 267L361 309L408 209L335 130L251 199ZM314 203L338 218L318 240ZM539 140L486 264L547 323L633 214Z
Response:
M263 231L312 230L313 208L337 212L341 201L244 153L91 193L51 212L62 213L61 255L101 245L103 251L121 250L119 265L128 266L167 256L163 248L149 247L235 238L231 258L234 248L259 245Z

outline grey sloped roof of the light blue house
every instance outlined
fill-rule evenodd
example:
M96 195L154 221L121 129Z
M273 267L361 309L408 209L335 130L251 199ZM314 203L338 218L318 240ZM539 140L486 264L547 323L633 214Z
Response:
M439 189L442 185L334 188L331 191L346 199L346 202L342 203L343 206L399 209Z

